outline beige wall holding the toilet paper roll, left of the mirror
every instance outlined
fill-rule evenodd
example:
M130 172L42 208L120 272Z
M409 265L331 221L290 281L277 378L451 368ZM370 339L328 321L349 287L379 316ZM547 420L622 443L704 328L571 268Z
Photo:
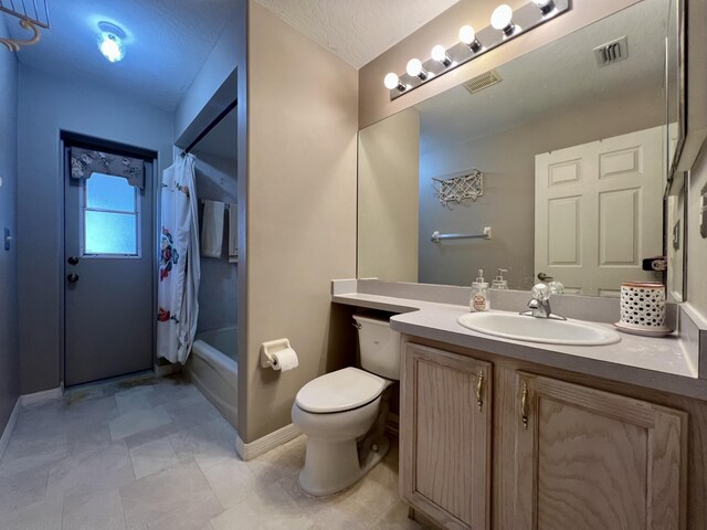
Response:
M246 443L289 424L297 391L356 347L333 330L340 322L330 280L356 274L358 130L356 70L257 3L249 8L247 279L239 308L247 314L239 367ZM260 368L260 344L282 337L299 367Z

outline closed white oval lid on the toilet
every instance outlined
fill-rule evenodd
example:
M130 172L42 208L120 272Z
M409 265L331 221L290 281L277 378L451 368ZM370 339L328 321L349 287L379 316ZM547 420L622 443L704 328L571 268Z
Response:
M358 368L345 368L309 381L295 401L307 412L349 411L370 403L384 388L384 379Z

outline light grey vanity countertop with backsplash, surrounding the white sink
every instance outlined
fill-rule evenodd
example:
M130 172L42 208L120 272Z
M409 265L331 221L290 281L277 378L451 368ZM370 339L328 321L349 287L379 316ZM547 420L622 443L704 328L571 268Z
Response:
M490 293L492 310L519 311L529 299L529 294L523 292ZM391 318L391 328L408 336L707 400L707 381L698 377L700 330L683 309L679 318L685 331L680 336L648 338L622 333L621 342L609 346L542 344L502 339L462 327L456 320L468 312L469 294L467 287L333 282L333 301L398 312ZM608 327L619 320L618 299L557 296L552 303L553 311L570 318L603 322ZM675 315L676 307L672 309Z

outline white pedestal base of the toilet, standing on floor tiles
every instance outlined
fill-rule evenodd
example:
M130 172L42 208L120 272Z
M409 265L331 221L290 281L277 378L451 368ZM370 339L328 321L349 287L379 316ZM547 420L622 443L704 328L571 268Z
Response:
M325 497L352 486L382 460L390 451L384 434L342 442L307 441L305 467L299 471L299 488L307 495Z

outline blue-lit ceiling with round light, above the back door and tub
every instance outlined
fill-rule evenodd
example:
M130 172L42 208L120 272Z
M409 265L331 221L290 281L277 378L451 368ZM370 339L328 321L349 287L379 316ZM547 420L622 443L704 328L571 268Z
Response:
M165 110L173 110L221 32L234 17L232 0L50 0L52 28L20 63L107 85ZM12 36L24 38L9 15ZM126 55L109 63L98 52L97 24L107 21L127 34ZM0 50L0 53L8 53Z

